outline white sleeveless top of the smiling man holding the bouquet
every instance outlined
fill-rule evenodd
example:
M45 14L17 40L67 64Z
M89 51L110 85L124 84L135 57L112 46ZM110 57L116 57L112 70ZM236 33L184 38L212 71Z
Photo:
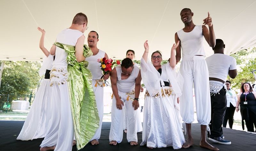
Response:
M102 70L101 70L101 63L98 62L98 59L104 58L105 57L105 52L99 49L99 52L90 57L86 57L85 61L89 62L88 69L92 72L92 79L93 80L98 80L102 76Z

